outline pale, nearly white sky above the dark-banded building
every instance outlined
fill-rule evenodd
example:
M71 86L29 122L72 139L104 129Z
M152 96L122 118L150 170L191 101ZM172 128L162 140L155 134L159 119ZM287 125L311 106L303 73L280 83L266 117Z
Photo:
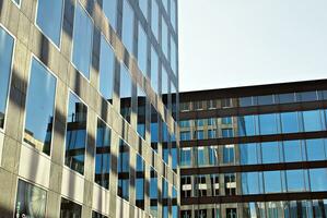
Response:
M327 77L327 0L178 0L179 89Z

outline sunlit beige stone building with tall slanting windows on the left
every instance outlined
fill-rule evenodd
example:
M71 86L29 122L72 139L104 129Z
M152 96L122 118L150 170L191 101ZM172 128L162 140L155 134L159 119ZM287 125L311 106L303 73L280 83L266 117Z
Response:
M0 0L0 217L177 217L177 0Z

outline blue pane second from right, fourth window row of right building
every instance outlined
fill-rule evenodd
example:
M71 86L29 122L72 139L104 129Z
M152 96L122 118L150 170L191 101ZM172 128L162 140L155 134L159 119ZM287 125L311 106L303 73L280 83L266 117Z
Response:
M306 173L303 170L287 170L288 192L307 191L305 183L307 182Z

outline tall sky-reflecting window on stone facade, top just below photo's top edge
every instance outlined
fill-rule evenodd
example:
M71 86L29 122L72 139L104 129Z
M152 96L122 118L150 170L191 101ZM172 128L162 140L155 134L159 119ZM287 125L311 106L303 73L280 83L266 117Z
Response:
M79 3L74 16L72 62L86 78L90 78L93 24Z

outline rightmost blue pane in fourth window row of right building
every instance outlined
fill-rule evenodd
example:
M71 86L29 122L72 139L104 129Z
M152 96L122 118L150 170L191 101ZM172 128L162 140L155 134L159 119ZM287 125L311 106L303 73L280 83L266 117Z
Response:
M310 183L312 192L326 192L327 191L327 169L310 169Z

